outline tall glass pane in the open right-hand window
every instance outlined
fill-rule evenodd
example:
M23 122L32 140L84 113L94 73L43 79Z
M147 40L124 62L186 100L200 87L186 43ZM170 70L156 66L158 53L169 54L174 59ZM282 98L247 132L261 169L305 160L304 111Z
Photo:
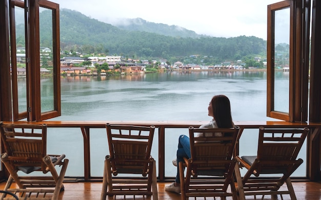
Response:
M274 110L289 113L290 8L275 11L274 47Z

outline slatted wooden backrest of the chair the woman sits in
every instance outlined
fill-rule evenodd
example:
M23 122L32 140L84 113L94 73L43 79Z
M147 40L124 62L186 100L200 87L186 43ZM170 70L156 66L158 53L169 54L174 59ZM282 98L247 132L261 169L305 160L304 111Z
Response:
M189 127L190 160L197 164L197 168L193 168L193 172L198 175L223 175L226 173L231 163L238 130L238 126L235 128Z

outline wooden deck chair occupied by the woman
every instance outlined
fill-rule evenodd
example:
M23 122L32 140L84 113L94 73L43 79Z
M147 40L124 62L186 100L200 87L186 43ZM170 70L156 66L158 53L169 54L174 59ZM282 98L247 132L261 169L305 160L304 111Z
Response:
M225 199L227 196L237 199L233 179L236 160L232 154L238 130L238 126L211 129L189 127L191 158L184 158L185 162L178 164L182 199Z

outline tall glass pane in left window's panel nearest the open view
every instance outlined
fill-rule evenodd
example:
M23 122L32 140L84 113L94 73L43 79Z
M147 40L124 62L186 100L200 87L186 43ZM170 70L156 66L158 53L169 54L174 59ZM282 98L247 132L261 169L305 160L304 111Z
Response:
M41 112L54 110L52 10L39 7Z

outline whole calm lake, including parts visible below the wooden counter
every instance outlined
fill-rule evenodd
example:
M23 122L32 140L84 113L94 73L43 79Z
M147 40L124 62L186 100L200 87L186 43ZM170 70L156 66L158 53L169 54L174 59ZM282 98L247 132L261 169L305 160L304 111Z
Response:
M209 101L224 94L231 102L234 121L272 121L266 117L265 71L165 72L126 76L64 76L61 78L62 116L51 120L210 121ZM280 80L288 78L280 73ZM44 84L44 83L42 83ZM48 83L49 85L49 83ZM49 90L49 89L48 89ZM287 91L284 92L287 94ZM157 131L156 131L157 132ZM246 130L240 139L240 154L255 154L258 130ZM165 175L175 176L172 165L179 135L187 129L166 130ZM91 130L91 175L102 176L108 153L105 129ZM70 158L67 176L83 176L83 137L79 128L50 128L48 151ZM56 147L59 144L61 148ZM306 159L305 148L299 158ZM52 152L53 153L53 152ZM152 155L157 162L157 137ZM305 176L305 163L295 172Z

